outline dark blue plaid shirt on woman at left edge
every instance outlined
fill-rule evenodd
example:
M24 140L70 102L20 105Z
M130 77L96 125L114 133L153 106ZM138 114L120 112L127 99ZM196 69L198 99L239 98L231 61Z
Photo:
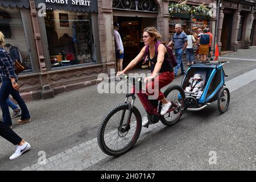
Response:
M11 56L5 49L0 47L0 82L3 82L5 78L15 78L15 81L18 80Z

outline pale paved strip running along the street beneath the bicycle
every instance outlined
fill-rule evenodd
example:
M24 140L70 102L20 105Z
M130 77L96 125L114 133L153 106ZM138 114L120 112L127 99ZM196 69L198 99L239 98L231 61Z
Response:
M253 71L247 72L241 76L233 78L226 82L227 88L230 92L241 88L249 84L250 82L256 80L256 69ZM147 117L143 117L143 120ZM156 123L155 125L150 125L148 129L142 128L139 141L144 138L157 133L158 131L164 129L164 126L161 122ZM137 142L137 143L138 143ZM23 168L22 171L42 171L42 170L83 170L94 164L97 164L103 159L108 158L109 156L104 154L100 147L98 147L97 138L93 138L87 142L81 143L75 147L69 148L68 150L61 152L51 158L46 159L46 164L39 165L38 163L33 164Z

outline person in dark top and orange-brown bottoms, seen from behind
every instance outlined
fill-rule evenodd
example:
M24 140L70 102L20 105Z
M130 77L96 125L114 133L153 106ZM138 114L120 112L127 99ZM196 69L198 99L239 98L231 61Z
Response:
M207 29L204 28L203 34L201 34L199 38L200 47L199 47L199 54L200 60L205 62L207 60L207 56L209 53L209 43L210 43L210 36L207 34Z

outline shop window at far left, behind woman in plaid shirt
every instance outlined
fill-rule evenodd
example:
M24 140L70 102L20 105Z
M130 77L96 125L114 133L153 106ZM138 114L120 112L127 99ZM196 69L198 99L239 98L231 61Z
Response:
M6 51L13 60L21 61L26 68L22 73L32 72L30 52L19 9L0 7L0 31L5 35Z

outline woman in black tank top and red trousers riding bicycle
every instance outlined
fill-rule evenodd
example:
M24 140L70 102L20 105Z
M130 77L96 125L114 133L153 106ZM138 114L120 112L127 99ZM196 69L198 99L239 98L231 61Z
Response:
M170 60L165 59L165 57L168 57L168 52L163 44L159 44L158 55L156 55L155 45L160 38L161 35L154 27L145 28L143 30L143 42L145 46L137 57L135 57L135 59L133 59L130 64L123 69L123 71L117 73L117 76L125 74L130 69L133 69L148 52L147 57L151 63L151 76L144 79L144 82L147 82L146 92L148 96L155 96L155 94L157 94L157 100L161 101L163 104L161 115L164 115L170 109L171 102L166 100L164 94L160 92L160 89L174 80L174 68L172 67ZM149 51L146 51L147 47ZM146 126L147 122L148 121L143 122L142 126Z

